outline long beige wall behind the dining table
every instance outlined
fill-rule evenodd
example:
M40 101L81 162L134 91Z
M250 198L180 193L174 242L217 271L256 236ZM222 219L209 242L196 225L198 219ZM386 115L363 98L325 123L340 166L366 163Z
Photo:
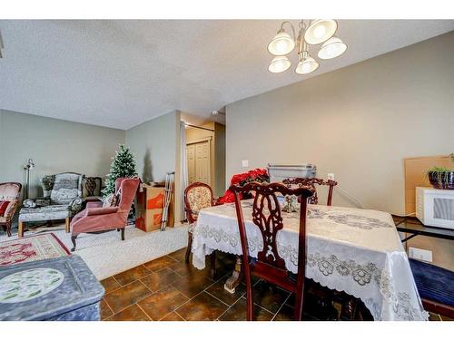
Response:
M227 105L226 179L242 160L311 162L320 177L335 173L334 205L355 205L345 190L403 214L403 159L454 148L453 55L451 32Z

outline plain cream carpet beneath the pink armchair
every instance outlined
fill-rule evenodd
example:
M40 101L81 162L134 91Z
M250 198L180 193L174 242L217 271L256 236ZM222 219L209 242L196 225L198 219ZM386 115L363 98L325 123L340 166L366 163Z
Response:
M42 230L44 230L42 233L34 235L50 234L45 228ZM25 232L25 236L27 233ZM53 230L53 233L66 248L73 248L71 234L67 234L64 228ZM9 242L13 238L17 238L17 234L13 234L11 238L7 238L5 233L0 234L0 242L5 240ZM120 233L116 230L97 235L80 234L74 254L81 256L94 276L102 280L186 247L188 228L183 225L147 233L134 226L128 226L124 238L122 241Z

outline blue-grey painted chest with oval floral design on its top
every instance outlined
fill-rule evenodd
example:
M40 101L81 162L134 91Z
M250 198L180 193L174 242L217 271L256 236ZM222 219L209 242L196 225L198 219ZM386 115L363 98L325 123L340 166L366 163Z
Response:
M104 287L81 257L57 257L0 270L0 320L100 320Z

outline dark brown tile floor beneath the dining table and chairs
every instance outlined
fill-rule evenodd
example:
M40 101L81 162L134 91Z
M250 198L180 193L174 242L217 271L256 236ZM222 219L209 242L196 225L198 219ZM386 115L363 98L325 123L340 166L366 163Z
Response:
M212 279L210 268L198 270L184 262L186 248L126 270L101 283L105 296L101 303L103 320L111 321L195 321L246 319L245 287L234 294L223 289L234 267L234 257L219 253L216 260L217 278ZM210 261L207 260L207 264ZM254 315L257 320L291 320L291 294L254 280ZM329 312L336 314L331 306ZM339 310L340 312L340 310ZM327 309L306 297L307 320L327 319ZM362 318L360 314L360 318ZM440 320L440 316L431 315Z

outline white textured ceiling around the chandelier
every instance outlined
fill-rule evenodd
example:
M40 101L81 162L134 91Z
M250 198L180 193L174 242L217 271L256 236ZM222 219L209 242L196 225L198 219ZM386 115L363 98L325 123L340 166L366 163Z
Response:
M227 103L305 79L294 65L267 72L266 45L280 23L3 20L0 109L119 129L173 110L209 117ZM311 76L453 29L452 20L340 20L347 53L321 61Z

